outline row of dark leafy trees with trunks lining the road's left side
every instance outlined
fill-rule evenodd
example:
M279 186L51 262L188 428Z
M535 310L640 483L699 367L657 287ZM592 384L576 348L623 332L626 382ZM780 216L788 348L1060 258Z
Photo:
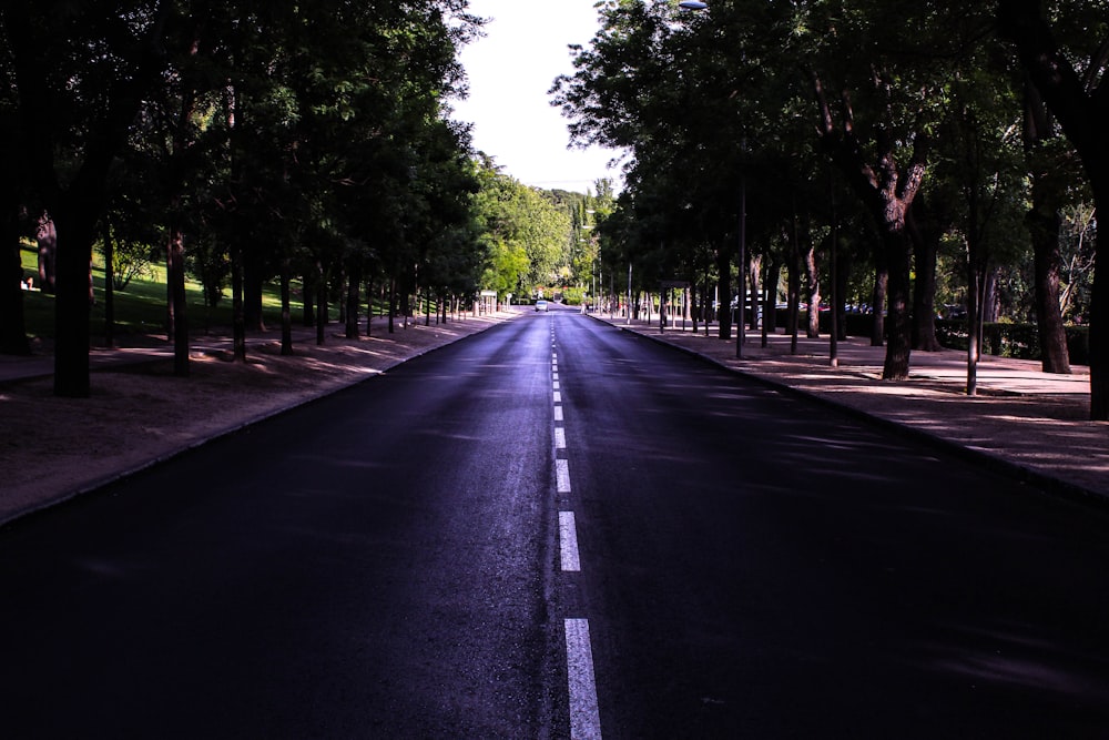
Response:
M26 352L20 237L57 234L59 395L89 393L94 244L161 245L176 369L187 373L184 276L230 283L236 356L262 285L289 283L326 318L342 283L407 310L469 295L485 267L466 126L447 101L481 21L465 0L353 3L132 0L0 9L0 347ZM111 272L111 270L110 270ZM17 277L18 274L18 277ZM319 324L322 326L322 323ZM321 331L321 338L323 334Z

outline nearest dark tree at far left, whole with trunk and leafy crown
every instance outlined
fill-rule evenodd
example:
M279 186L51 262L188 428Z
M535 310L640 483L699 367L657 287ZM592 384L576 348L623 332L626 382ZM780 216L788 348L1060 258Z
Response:
M11 3L0 16L17 90L20 164L58 229L60 396L89 395L89 266L104 185L163 70L174 12L167 2L48 1Z

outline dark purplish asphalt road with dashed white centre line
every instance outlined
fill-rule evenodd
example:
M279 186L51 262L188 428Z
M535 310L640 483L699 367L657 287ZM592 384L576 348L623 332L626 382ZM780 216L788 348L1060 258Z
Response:
M1107 566L1103 514L536 313L0 529L0 737L1103 738Z

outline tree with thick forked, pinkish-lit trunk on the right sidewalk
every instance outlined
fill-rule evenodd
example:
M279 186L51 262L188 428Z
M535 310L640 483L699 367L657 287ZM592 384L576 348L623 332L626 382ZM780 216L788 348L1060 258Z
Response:
M807 4L812 51L803 63L813 75L820 135L882 235L877 262L888 271L883 378L905 378L913 328L909 211L928 171L937 103L965 62L974 14L932 2Z

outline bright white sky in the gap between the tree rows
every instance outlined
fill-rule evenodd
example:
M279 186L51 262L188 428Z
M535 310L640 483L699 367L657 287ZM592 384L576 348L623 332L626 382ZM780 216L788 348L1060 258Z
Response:
M598 29L597 0L470 0L491 19L486 36L462 49L470 95L451 118L474 124L474 146L527 185L583 193L609 178L620 190L617 152L567 149L569 119L550 104L554 78L570 74L568 44L588 44Z

